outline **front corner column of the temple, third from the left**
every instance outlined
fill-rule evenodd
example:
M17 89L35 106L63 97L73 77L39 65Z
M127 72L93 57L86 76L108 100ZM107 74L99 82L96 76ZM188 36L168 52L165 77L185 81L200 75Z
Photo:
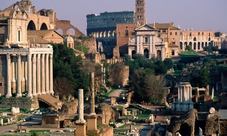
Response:
M28 54L28 69L27 69L27 88L28 88L28 97L32 97L32 62L31 62L32 54Z

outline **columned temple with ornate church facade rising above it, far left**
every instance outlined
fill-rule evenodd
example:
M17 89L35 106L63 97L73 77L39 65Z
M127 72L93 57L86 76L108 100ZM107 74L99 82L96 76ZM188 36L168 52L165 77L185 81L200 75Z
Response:
M29 1L0 16L3 33L0 45L0 94L7 98L53 94L53 48L48 41L33 35L28 39ZM24 95L22 95L24 94Z

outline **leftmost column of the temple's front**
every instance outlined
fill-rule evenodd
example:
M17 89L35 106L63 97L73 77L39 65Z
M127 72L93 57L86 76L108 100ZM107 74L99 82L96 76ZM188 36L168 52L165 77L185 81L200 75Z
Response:
M6 94L6 98L9 98L12 96L12 92L11 92L11 58L10 58L10 54L6 55L6 62L7 62L7 94Z

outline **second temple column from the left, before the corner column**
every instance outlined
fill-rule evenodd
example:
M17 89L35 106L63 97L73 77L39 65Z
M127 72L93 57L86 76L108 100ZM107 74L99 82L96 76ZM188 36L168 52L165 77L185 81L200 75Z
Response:
M21 97L21 55L17 55L17 97Z

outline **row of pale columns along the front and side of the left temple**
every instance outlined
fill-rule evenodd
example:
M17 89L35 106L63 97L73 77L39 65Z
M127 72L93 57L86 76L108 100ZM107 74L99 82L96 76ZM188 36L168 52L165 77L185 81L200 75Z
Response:
M26 59L22 60L22 57ZM17 92L17 97L21 97L22 91L25 90L28 91L28 97L54 93L52 54L18 54L17 61L14 59L14 55L11 54L7 54L6 58L7 98L12 96L12 93L15 92L14 90ZM16 83L16 85L14 85L14 83Z

